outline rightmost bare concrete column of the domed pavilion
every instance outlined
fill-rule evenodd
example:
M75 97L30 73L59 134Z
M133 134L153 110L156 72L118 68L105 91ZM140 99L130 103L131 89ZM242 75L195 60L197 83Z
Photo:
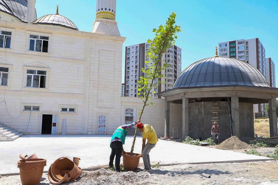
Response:
M277 134L277 114L276 114L276 97L272 96L271 99L268 99L269 107L269 131L270 137L276 137Z

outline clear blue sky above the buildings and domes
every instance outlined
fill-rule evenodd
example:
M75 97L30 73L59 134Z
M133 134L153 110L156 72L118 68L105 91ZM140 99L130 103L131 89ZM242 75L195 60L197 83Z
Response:
M91 32L96 0L37 0L37 17L56 13L57 4L59 13L72 20L79 30ZM259 38L278 74L277 10L277 0L118 0L116 21L121 36L126 37L123 64L125 46L153 38L152 29L164 24L173 11L182 28L176 40L176 45L182 48L182 69L214 56L219 42Z

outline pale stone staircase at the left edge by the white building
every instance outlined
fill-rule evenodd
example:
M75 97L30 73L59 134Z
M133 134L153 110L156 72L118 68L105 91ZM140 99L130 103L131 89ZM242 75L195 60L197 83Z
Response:
M22 135L11 127L0 123L0 141L14 141Z

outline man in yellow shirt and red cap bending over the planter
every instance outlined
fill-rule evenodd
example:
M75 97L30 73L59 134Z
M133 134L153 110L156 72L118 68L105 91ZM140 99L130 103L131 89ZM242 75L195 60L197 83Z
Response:
M152 125L148 125L148 124L143 125L141 122L137 122L135 127L137 127L139 130L142 131L142 138L143 138L142 158L145 166L144 170L151 170L149 153L150 150L153 149L155 144L158 142L157 135ZM148 140L147 144L146 144L146 139Z

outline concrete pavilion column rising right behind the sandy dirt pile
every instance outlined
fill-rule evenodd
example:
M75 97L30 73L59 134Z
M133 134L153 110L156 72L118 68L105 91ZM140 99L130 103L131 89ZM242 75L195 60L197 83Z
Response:
M233 124L233 134L240 138L239 132L239 106L238 106L238 96L231 97L231 112L232 112L232 124Z

